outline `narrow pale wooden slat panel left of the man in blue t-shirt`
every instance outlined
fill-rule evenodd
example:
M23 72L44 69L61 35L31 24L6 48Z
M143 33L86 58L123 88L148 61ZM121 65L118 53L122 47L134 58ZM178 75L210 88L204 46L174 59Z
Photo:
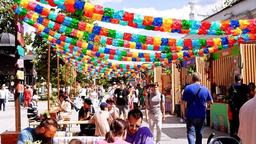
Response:
M172 115L175 104L180 103L180 72L175 64L172 64Z

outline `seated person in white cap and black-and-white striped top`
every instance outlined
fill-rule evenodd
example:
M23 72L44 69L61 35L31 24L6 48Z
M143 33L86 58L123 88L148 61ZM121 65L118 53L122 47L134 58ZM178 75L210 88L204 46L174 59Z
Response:
M41 97L34 95L32 97L32 102L28 105L28 120L40 120L40 115L37 110L37 102Z

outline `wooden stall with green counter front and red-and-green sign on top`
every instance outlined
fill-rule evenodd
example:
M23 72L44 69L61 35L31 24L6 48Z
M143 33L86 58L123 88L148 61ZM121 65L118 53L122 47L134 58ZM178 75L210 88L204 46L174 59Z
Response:
M238 68L238 46L212 54L211 128L228 133L228 86L234 83Z

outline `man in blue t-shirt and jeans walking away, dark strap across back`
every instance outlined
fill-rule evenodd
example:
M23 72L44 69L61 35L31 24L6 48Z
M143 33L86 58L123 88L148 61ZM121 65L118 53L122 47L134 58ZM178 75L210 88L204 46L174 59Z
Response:
M189 144L202 144L204 126L206 124L206 103L213 104L209 90L205 86L201 86L201 77L201 74L198 72L192 75L193 84L185 88L181 99L183 117L187 119L187 137ZM198 95L196 95L197 92L199 92ZM186 102L187 114L185 115Z

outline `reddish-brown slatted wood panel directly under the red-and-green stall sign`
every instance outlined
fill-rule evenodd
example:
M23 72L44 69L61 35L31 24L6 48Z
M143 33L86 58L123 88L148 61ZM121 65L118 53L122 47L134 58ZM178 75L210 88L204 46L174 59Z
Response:
M234 83L233 57L213 61L213 80L227 88Z

